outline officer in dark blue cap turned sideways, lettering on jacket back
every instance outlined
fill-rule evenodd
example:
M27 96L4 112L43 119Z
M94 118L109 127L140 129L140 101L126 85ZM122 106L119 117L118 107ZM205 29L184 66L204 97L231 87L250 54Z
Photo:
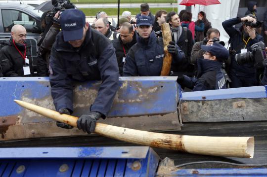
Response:
M193 91L225 89L222 62L229 57L228 50L219 43L201 45L204 59L197 59L197 78L178 76L178 83Z

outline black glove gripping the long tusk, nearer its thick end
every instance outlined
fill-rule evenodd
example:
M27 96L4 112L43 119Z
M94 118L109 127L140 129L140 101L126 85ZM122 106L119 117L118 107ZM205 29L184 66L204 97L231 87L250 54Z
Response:
M84 132L90 134L95 129L95 124L100 119L101 113L90 111L89 114L84 114L77 120L77 128L82 129Z

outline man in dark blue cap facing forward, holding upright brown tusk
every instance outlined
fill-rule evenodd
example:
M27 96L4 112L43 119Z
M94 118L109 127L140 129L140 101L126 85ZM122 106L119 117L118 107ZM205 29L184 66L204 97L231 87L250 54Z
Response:
M156 37L152 23L149 16L137 18L137 42L126 55L123 76L160 75L164 58L163 39ZM173 41L168 45L168 51L173 55L172 64L184 57L184 53Z

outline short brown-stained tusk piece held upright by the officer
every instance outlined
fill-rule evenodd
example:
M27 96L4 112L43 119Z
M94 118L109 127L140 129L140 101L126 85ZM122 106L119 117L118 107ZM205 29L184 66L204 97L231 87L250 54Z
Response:
M169 23L164 23L161 25L162 29L162 36L163 36L163 50L164 50L164 58L163 58L163 64L161 69L161 76L167 76L170 74L171 71L171 65L172 65L172 54L168 52L168 45L169 42L172 41L172 34Z

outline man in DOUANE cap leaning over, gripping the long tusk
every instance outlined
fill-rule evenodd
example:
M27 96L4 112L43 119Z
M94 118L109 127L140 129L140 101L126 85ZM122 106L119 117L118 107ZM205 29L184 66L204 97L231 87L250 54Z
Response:
M115 49L102 34L91 29L85 14L68 9L60 16L62 31L56 36L50 57L50 85L54 106L59 113L73 112L72 81L102 80L89 112L77 121L77 127L91 133L96 121L105 118L119 87L119 69ZM72 128L57 122L62 128Z

